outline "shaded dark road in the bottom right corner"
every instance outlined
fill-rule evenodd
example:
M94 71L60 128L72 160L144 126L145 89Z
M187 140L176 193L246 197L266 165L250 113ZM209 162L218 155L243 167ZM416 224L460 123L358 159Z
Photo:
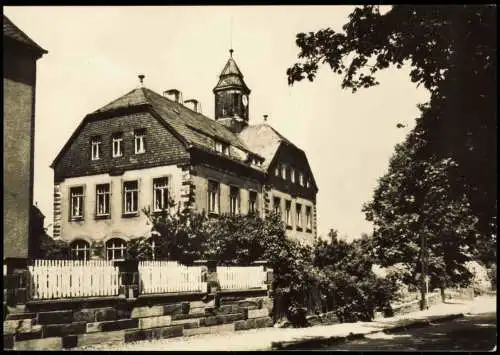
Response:
M393 334L375 333L322 350L491 351L496 344L496 312L488 312Z

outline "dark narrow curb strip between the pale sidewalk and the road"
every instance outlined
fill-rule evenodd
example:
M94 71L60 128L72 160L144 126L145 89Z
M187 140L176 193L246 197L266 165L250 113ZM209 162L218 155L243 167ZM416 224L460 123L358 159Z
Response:
M426 320L417 320L415 322L411 322L405 325L398 325L394 327L389 327L383 330L375 330L367 333L349 333L347 336L333 336L333 337L315 337L315 338L309 338L309 339L304 339L304 340L297 340L297 341L282 341L282 342L272 342L271 343L271 349L270 350L307 350L307 349L318 349L318 348L323 348L331 345L338 345L341 343L346 343L349 341L353 340L359 340L365 338L366 335L370 334L375 334L375 333L386 333L386 334L391 334L391 333L397 333L409 329L417 329L417 328L422 328L425 326L431 325L431 323L435 322L446 322L450 321L453 319L458 319L458 318L463 318L464 314L463 313L456 313L456 314L448 314L445 316L436 316L432 319L426 319Z

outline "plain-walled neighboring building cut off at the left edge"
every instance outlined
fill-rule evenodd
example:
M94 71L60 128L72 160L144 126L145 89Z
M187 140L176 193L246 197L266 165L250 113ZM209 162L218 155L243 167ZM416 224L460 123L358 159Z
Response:
M33 205L36 61L47 53L3 16L4 258L26 258Z

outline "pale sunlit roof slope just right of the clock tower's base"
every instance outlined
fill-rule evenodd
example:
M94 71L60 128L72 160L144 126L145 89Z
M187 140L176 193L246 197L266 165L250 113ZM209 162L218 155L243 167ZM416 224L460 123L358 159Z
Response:
M239 137L253 152L265 159L263 165L266 169L269 168L269 164L271 164L271 161L276 155L281 142L285 142L299 149L278 131L265 123L246 127L241 131Z

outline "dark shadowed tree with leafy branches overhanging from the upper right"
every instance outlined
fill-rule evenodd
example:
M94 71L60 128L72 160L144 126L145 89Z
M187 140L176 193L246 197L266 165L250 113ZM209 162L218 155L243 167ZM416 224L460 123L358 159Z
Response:
M410 78L431 93L416 131L426 149L419 159L452 158L453 199L464 191L479 218L477 253L496 260L497 29L495 5L377 5L357 7L343 32L327 28L297 34L299 62L288 82L313 81L320 64L343 75L342 87L356 92L378 85L379 70L410 64Z

